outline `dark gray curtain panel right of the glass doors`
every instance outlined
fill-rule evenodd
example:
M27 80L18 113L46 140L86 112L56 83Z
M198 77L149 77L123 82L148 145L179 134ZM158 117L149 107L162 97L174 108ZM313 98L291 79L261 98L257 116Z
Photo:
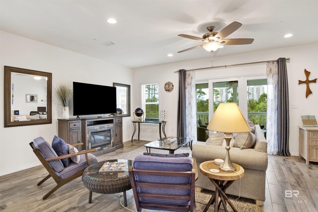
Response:
M278 130L278 154L290 156L289 152L289 94L286 59L279 58L278 66L278 93L277 93L277 130Z

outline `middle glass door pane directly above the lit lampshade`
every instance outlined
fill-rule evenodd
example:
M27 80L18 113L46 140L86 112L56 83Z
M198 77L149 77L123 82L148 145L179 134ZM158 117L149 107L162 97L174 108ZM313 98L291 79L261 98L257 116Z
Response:
M239 81L213 82L214 112L221 102L239 104Z

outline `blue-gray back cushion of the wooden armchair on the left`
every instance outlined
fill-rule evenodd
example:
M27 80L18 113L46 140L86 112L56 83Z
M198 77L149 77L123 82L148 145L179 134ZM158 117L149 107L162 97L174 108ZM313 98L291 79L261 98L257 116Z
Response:
M45 159L52 158L52 157L57 157L58 155L52 148L52 146L45 141L42 137L38 137L33 140L34 146L40 150L41 154ZM49 165L52 167L52 169L55 172L60 172L64 169L63 163L61 160L52 160L48 162Z

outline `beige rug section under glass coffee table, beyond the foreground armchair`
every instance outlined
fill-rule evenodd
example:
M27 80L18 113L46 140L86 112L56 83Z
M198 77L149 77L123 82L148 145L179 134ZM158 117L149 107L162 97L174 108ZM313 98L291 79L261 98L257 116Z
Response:
M120 154L116 155L116 158L134 160L137 155L142 155L142 154L144 154L144 152L147 152L146 147L141 146L141 147L136 148L132 151L120 153ZM168 154L169 153L168 150L155 149L155 148L152 148L151 152L160 153L160 154ZM191 150L189 147L178 148L177 150L174 151L174 153L175 154L177 154L177 153L189 153L190 157L191 157Z

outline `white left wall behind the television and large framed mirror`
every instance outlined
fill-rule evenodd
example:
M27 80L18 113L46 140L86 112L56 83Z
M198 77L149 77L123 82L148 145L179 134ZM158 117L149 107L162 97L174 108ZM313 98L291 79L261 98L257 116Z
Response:
M112 86L113 82L132 84L133 71L99 59L0 31L0 105L3 106L3 67L11 66L52 73L52 89L60 82L85 82ZM134 86L131 87L134 93ZM26 169L40 162L29 146L42 136L49 143L58 135L62 106L52 93L52 124L4 128L0 107L0 175ZM70 111L71 113L71 111ZM71 113L72 114L72 113ZM131 137L131 117L123 118L123 141ZM127 132L128 129L128 132Z

